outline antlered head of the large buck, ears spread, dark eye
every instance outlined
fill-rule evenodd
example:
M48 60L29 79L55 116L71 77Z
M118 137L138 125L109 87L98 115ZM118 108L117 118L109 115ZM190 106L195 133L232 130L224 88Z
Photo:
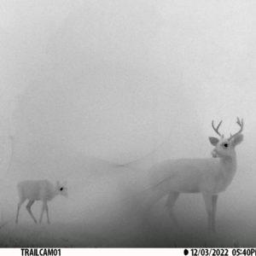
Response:
M219 126L221 125L222 121L220 121L217 127L214 126L212 120L212 129L218 134L220 138L217 137L209 137L210 143L215 148L212 150L212 157L232 157L235 154L235 147L239 143L242 142L243 135L241 131L243 130L243 119L236 119L236 124L240 126L240 130L236 132L236 134L231 135L229 138L225 138L224 135L221 135L218 131Z

